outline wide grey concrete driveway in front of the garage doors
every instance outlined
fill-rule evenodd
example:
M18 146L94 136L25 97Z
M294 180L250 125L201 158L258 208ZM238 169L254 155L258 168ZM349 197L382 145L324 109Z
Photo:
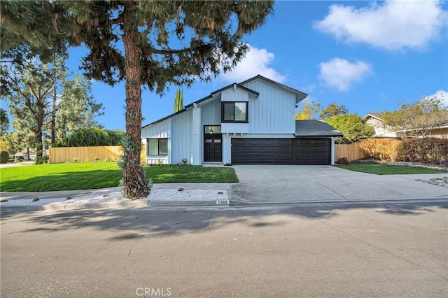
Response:
M415 181L447 174L374 175L335 166L238 165L231 204L448 199L448 189Z

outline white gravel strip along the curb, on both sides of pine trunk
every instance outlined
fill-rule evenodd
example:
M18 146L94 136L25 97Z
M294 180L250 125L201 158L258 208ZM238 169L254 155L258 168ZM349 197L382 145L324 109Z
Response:
M158 189L151 190L144 201L216 201L229 198L227 190L172 190ZM82 197L73 197L71 199L52 198L52 199L10 199L3 201L0 206L38 206L52 204L87 204L87 203L106 203L111 201L129 201L123 197L122 192L110 192L109 194L90 194Z

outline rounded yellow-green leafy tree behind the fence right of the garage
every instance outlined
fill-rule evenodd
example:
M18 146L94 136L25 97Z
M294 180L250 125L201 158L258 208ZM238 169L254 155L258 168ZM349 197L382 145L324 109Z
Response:
M334 115L325 122L344 135L342 138L336 138L336 143L353 143L375 133L374 127L365 124L358 114Z

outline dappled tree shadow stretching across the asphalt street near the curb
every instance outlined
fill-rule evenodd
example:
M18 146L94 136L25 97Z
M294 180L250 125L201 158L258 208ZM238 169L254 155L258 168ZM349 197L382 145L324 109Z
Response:
M1 213L2 220L23 219L34 228L21 232L57 232L66 229L94 227L116 231L112 240L141 237L172 236L200 232L213 226L240 222L247 227L283 225L281 220L269 220L267 215L293 215L300 218L321 219L335 215L337 211L369 208L390 215L420 215L430 212L426 208L448 208L448 202L387 203L387 204L309 204L244 208L138 208L138 209L83 209L78 211ZM18 231L19 232L19 231Z

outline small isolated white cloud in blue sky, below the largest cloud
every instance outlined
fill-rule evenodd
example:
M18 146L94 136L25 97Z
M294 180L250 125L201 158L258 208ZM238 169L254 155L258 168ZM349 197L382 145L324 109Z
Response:
M341 91L349 90L353 83L360 82L365 76L372 73L372 66L367 62L356 61L352 63L341 58L321 62L319 67L321 69L319 78L326 85Z

